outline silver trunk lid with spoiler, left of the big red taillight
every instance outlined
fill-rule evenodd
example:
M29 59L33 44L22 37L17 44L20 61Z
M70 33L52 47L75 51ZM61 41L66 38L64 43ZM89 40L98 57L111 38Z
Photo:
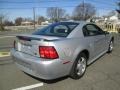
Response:
M40 57L39 46L49 46L49 43L63 37L42 35L18 35L15 48L19 52Z

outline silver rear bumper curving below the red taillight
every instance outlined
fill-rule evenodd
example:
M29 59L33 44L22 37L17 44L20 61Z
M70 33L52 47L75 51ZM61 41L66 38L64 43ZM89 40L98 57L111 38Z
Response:
M60 59L46 61L14 49L11 50L11 55L19 69L41 79L56 79L68 75L71 69L69 64L63 64Z

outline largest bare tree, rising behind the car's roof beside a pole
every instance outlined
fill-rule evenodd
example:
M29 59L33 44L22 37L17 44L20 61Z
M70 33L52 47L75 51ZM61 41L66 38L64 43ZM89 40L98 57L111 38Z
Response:
M73 11L74 20L87 20L96 13L95 7L90 3L80 3Z

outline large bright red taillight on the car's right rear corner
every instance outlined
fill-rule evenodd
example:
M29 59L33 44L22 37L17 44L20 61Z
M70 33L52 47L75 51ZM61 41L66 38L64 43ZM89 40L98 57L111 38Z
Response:
M57 59L58 53L53 46L39 46L39 54L41 58Z

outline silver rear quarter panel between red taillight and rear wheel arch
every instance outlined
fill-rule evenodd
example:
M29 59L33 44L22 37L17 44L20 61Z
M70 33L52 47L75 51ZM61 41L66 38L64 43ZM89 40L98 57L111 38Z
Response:
M59 58L64 61L74 62L78 54L82 50L92 51L90 48L89 42L84 40L84 38L65 38L62 40L57 40L50 42L49 46L54 46L58 52Z

